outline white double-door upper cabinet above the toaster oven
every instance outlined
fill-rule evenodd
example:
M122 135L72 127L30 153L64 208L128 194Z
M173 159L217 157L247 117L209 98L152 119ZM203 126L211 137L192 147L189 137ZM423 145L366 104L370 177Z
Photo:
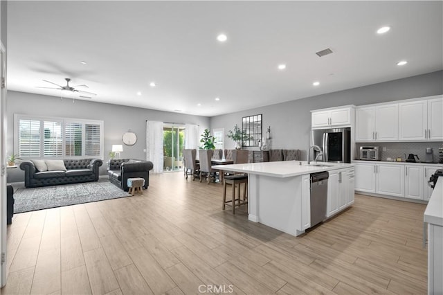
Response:
M397 141L398 105L358 107L355 141Z

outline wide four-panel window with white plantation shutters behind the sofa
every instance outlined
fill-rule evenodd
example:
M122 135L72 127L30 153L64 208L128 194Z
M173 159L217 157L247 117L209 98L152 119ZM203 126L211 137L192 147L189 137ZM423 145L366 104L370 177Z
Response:
M23 159L103 159L103 121L14 116L15 154Z

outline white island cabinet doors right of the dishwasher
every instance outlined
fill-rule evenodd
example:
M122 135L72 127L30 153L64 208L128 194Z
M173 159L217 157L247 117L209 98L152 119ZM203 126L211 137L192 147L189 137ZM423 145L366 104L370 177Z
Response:
M354 203L354 169L329 171L326 216L330 217L352 203Z

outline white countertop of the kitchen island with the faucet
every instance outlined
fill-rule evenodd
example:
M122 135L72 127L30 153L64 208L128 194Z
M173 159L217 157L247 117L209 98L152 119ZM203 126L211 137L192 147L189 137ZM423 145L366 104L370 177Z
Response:
M300 165L301 163L301 165ZM311 161L311 164L314 164ZM247 163L247 164L232 164L232 165L215 165L212 166L218 170L228 170L234 172L244 172L255 175L265 175L270 177L294 177L299 175L306 175L315 172L323 172L329 170L336 170L341 168L350 168L354 165L352 163L323 163L326 166L307 166L307 161L276 161L276 162L262 162L262 163Z

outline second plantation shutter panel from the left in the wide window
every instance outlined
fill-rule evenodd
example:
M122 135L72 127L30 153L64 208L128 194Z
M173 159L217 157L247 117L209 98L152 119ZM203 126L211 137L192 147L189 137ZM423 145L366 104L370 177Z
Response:
M62 149L62 122L44 121L43 155L45 157L60 157Z

